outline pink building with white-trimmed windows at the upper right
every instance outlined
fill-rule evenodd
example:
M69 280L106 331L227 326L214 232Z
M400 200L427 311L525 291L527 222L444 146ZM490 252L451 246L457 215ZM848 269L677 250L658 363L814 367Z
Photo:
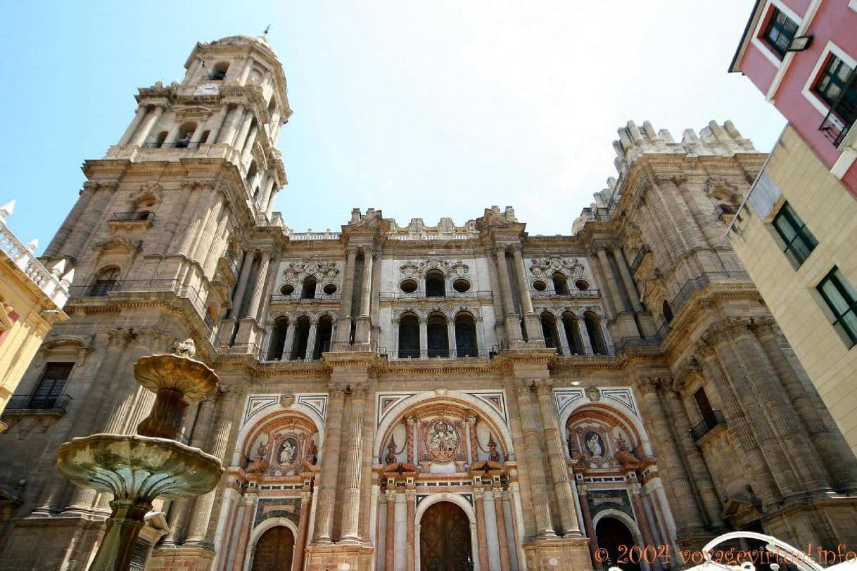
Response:
M729 71L857 195L857 0L756 0Z

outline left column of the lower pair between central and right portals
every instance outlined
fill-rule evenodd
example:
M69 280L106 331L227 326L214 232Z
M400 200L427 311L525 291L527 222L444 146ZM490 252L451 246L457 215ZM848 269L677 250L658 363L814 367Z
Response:
M518 400L518 414L521 420L521 432L524 434L524 449L518 449L523 458L522 468L530 477L530 496L536 518L536 537L540 539L556 538L553 520L548 503L544 468L539 450L539 430L536 425L530 399L530 382L515 379L513 388Z

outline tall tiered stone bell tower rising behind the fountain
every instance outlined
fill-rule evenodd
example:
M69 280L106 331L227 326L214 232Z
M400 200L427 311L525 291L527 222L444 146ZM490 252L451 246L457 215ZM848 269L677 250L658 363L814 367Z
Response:
M197 44L184 67L181 82L141 88L117 144L83 164L80 198L45 251L49 268L75 269L71 318L19 391L47 383L69 399L16 413L3 437L0 487L14 492L3 495L13 499L0 512L0 568L78 568L94 552L110 498L63 481L56 450L72 437L135 431L151 407L134 386L135 360L192 338L197 359L211 362L219 342L253 343L261 330L267 266L285 240L270 231L282 226L272 206L286 184L275 147L291 116L283 68L264 37L246 36ZM221 392L189 407L184 436L222 457L223 438L195 418L225 417L235 400ZM153 543L159 526L147 529Z

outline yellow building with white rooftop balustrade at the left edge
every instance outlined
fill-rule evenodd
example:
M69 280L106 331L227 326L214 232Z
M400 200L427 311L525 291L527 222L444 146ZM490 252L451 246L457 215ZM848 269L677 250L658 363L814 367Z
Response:
M64 261L49 271L31 251L34 244L25 246L15 237L5 222L12 205L0 207L0 413L6 407L10 412L32 408L33 400L51 401L51 409L63 406L62 391L48 384L43 394L12 394L51 326L68 318L63 305L74 274L65 271ZM6 428L0 423L0 431Z

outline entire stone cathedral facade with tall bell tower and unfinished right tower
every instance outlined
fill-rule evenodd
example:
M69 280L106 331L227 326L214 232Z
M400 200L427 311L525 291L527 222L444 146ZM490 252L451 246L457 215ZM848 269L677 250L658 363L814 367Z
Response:
M725 237L765 159L730 122L620 128L573 235L511 207L297 233L272 211L291 109L267 40L185 67L140 90L45 251L75 268L69 320L20 391L70 399L4 418L0 569L87 568L111 498L63 480L57 447L133 433L154 398L135 360L187 338L220 382L182 438L226 473L156 502L136 568L660 571L738 529L857 545L857 461Z

